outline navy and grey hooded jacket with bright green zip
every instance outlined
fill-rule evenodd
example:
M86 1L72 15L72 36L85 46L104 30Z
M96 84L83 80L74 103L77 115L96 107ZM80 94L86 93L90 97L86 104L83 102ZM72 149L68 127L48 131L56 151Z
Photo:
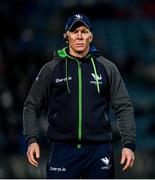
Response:
M37 75L24 103L23 126L28 144L39 139L42 105L48 104L51 141L107 142L112 140L109 107L113 108L124 147L135 150L131 99L117 67L99 54L75 58L58 50Z

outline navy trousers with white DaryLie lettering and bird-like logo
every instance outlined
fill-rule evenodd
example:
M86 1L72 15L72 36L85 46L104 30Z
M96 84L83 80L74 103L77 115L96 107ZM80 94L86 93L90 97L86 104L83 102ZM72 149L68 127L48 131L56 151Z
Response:
M113 179L112 145L54 142L46 172L49 179Z

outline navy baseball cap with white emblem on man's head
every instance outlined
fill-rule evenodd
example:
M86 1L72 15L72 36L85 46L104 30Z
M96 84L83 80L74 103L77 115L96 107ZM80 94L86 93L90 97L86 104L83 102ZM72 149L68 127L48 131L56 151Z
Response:
M88 29L91 30L91 23L89 21L89 18L79 13L79 14L74 14L67 19L65 25L65 32L70 31L72 27L77 23L82 23L84 26L86 26Z

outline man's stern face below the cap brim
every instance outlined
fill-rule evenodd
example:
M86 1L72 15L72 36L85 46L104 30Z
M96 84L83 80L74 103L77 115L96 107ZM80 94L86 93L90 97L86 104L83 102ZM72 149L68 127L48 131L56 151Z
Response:
M67 36L71 55L88 53L93 35L87 27L79 26L73 31L68 31Z

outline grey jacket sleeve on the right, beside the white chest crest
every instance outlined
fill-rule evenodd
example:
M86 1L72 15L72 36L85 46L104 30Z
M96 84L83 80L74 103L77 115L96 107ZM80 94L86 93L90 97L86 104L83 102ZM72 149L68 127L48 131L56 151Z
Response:
M110 100L117 119L121 142L124 147L135 151L136 135L133 104L117 67L112 64L110 69Z

